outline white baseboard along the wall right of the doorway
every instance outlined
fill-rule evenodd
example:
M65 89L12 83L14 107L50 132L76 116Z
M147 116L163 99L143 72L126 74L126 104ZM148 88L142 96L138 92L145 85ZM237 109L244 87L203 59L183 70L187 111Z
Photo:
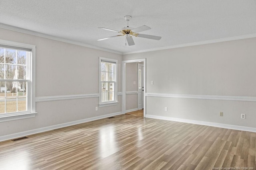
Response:
M208 121L197 121L197 120L190 120L190 119L180 119L180 118L175 118L175 117L165 117L165 116L156 116L156 115L146 115L146 117L153 118L153 119L178 121L178 122L183 122L183 123L192 123L192 124L196 124L196 125L220 127L220 128L225 128L225 129L234 129L234 130L239 130L239 131L256 132L256 128L254 128L254 127L226 125L226 124L222 124L222 123L214 123L214 122L208 122Z

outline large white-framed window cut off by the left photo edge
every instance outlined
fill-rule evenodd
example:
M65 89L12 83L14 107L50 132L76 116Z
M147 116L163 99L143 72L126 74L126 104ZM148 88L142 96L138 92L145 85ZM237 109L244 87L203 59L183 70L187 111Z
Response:
M0 40L0 121L34 117L33 58L35 46Z

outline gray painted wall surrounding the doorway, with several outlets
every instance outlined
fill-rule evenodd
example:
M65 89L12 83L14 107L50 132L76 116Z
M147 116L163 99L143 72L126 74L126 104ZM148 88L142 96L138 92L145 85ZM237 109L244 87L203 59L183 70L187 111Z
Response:
M123 60L146 58L146 94L256 97L255 47L256 38L250 38L128 54ZM147 96L146 114L256 127L256 102Z

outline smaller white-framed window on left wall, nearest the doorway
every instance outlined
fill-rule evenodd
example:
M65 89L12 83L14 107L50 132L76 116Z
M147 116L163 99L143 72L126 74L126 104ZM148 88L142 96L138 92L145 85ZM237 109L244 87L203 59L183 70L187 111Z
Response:
M117 104L117 60L100 57L100 106Z

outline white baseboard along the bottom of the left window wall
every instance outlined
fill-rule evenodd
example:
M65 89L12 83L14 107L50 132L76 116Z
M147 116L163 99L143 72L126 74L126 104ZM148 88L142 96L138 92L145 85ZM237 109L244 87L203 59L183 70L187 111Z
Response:
M68 122L68 123L62 123L62 124L58 124L58 125L42 127L42 128L39 128L39 129L30 130L30 131L24 131L24 132L20 132L20 133L13 133L13 134L10 134L10 135L1 136L0 137L0 142L1 141L7 141L7 140L10 140L10 139L19 138L19 137L24 137L24 136L27 136L27 135L33 135L33 134L36 134L36 133L46 132L46 131L50 131L50 130L54 130L54 129L59 129L59 128L62 128L62 127L68 127L68 126L71 126L71 125L77 125L77 124L85 123L85 122L88 122L88 121L94 121L94 120L103 119L103 118L106 118L106 117L121 115L121 114L122 114L122 112L120 111L120 112L116 112L116 113L111 113L111 114L101 115L101 116L96 116L96 117L90 117L90 118L87 118L87 119L72 121L72 122Z

